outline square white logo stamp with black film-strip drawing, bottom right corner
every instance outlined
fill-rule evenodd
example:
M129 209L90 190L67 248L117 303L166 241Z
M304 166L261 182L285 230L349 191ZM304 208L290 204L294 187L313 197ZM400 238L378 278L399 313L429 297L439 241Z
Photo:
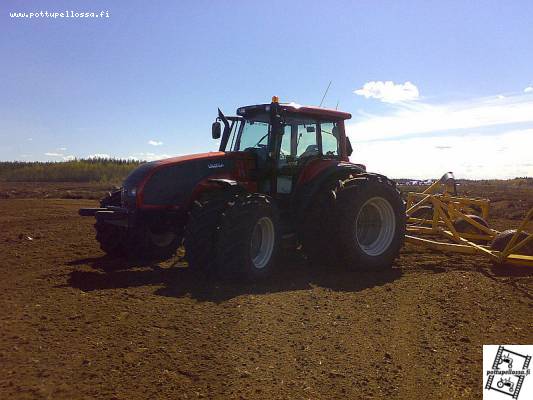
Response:
M533 346L483 346L483 399L530 399Z

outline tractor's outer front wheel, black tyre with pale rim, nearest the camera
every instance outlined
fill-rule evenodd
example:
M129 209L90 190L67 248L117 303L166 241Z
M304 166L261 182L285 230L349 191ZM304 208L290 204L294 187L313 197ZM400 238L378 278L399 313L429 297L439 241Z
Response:
M265 278L272 272L278 247L278 215L270 197L247 194L228 204L216 235L219 273L248 280Z

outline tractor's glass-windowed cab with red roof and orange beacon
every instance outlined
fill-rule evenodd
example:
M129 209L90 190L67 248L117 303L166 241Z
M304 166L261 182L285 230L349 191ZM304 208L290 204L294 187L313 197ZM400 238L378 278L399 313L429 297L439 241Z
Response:
M352 147L344 120L349 118L342 111L279 103L274 96L270 104L238 108L237 116L219 110L212 132L221 138L220 151L253 155L260 191L279 198L327 166L348 162Z

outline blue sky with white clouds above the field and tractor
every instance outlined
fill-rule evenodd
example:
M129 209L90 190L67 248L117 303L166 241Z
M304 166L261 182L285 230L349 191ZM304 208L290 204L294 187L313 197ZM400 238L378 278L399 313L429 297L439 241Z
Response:
M12 13L98 18L15 18ZM102 16L100 16L102 15ZM217 107L352 114L393 178L533 176L532 1L0 2L0 160L216 150Z

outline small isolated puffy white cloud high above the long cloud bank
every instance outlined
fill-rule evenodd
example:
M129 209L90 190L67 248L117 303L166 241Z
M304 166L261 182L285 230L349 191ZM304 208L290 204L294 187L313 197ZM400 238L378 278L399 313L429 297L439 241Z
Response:
M365 98L378 99L384 103L401 103L418 99L418 88L407 81L405 83L394 83L393 81L371 81L363 85L361 89L354 90L354 93Z

